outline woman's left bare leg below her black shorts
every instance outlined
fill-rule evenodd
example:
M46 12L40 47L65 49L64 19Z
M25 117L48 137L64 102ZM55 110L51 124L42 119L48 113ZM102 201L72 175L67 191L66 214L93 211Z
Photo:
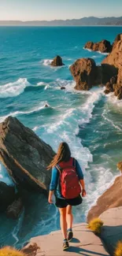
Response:
M67 222L66 222L66 207L65 208L59 208L60 212L60 224L61 224L61 232L63 235L63 238L67 238Z

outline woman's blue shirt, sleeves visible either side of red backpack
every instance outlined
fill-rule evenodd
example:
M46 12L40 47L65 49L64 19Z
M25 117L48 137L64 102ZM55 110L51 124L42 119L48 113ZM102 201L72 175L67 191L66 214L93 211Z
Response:
M79 177L79 180L83 180L83 172L80 168L79 162L76 160L76 173ZM60 175L57 168L54 166L52 169L52 177L50 182L50 191L54 191L54 195L57 198L64 199L61 195L61 184L60 184Z

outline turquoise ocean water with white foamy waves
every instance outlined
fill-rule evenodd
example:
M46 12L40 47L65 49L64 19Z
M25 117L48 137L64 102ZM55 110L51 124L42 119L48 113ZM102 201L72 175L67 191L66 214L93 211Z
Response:
M17 117L54 150L61 141L69 144L83 166L87 187L83 204L73 210L77 223L86 220L87 211L119 175L122 101L105 96L103 87L75 91L69 66L85 57L100 64L105 54L83 50L84 44L101 39L113 42L120 32L120 27L0 28L0 121ZM57 54L65 66L51 68ZM46 103L49 108L44 108ZM0 180L12 183L2 165ZM20 247L31 236L57 228L56 208L43 195L33 195L18 221L0 216L0 245Z

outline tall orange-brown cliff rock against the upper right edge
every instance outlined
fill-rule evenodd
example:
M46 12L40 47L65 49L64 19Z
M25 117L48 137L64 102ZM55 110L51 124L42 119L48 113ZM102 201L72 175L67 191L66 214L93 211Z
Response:
M102 61L102 65L109 69L109 72L106 72L109 76L117 76L113 91L115 91L117 98L122 99L122 34L117 35L113 43L113 50L109 56Z

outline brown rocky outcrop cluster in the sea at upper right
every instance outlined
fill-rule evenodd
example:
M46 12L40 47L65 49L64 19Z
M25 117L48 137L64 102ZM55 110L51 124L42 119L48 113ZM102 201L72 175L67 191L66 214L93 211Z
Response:
M105 46L106 40L97 43L94 49ZM96 44L95 44L96 45ZM94 43L88 42L85 47L93 48ZM70 66L70 71L76 81L76 90L88 91L96 85L105 86L105 94L113 92L118 99L122 99L122 34L116 36L109 55L96 65L91 58L80 58ZM102 50L101 50L102 51Z

